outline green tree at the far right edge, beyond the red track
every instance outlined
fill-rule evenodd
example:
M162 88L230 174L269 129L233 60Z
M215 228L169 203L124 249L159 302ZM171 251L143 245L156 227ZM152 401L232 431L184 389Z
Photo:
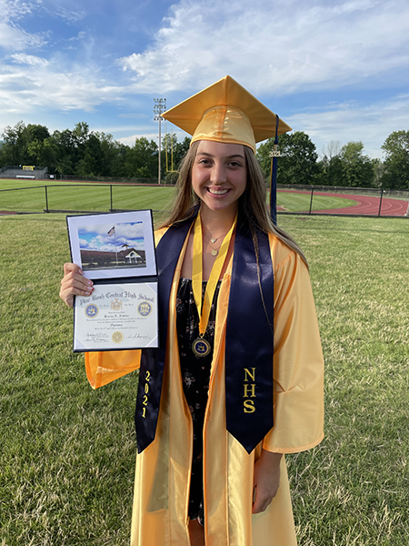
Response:
M386 154L382 187L409 189L409 131L394 131L382 149Z

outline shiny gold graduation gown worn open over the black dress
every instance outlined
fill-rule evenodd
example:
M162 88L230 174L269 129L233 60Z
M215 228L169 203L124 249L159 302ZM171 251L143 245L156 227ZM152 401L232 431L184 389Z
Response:
M156 243L164 232L156 234ZM225 429L224 343L230 263L217 300L203 431L206 546L295 546L284 457L274 500L263 513L252 515L254 461L262 448L294 453L314 447L324 437L324 361L308 270L299 255L279 238L270 236L270 246L274 267L274 428L250 454ZM182 387L175 312L185 247L170 295L155 440L136 457L131 546L190 544L187 510L193 426ZM248 309L249 320L251 312ZM85 354L92 387L96 389L136 369L139 357L140 351Z

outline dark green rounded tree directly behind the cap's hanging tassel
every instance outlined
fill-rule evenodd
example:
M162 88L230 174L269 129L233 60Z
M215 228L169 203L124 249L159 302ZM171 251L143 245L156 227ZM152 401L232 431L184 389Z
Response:
M269 138L257 148L256 157L262 167L264 177L270 177L271 157L274 138ZM279 184L314 184L317 182L319 167L318 154L314 143L303 131L285 133L278 136L277 182Z

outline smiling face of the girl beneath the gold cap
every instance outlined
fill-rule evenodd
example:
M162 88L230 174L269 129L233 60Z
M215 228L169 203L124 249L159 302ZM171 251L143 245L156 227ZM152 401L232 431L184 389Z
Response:
M247 184L244 147L201 140L192 168L192 187L202 207L235 213Z

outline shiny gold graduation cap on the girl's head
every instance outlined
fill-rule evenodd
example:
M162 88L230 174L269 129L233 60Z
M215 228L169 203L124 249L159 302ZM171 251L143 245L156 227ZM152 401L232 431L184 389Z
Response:
M233 77L206 87L167 110L162 117L193 135L196 140L243 144L255 153L255 143L275 136L277 116ZM278 135L291 131L282 119Z

